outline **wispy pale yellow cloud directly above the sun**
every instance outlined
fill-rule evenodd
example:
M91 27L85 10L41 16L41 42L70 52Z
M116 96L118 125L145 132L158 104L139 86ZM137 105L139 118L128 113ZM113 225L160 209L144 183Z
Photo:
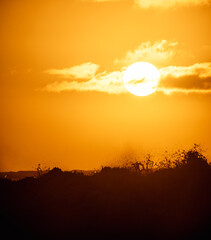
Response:
M123 58L116 59L115 64L129 66L135 62L150 62L156 66L169 63L177 54L178 42L168 42L166 40L154 43L144 42L136 49L128 51Z

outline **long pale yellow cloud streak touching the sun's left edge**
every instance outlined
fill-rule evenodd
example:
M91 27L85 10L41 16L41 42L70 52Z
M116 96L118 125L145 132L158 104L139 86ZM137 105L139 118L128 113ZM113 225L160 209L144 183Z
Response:
M44 90L48 92L62 91L97 91L109 94L120 94L127 92L123 84L123 71L103 72L85 82L62 81L47 85Z

